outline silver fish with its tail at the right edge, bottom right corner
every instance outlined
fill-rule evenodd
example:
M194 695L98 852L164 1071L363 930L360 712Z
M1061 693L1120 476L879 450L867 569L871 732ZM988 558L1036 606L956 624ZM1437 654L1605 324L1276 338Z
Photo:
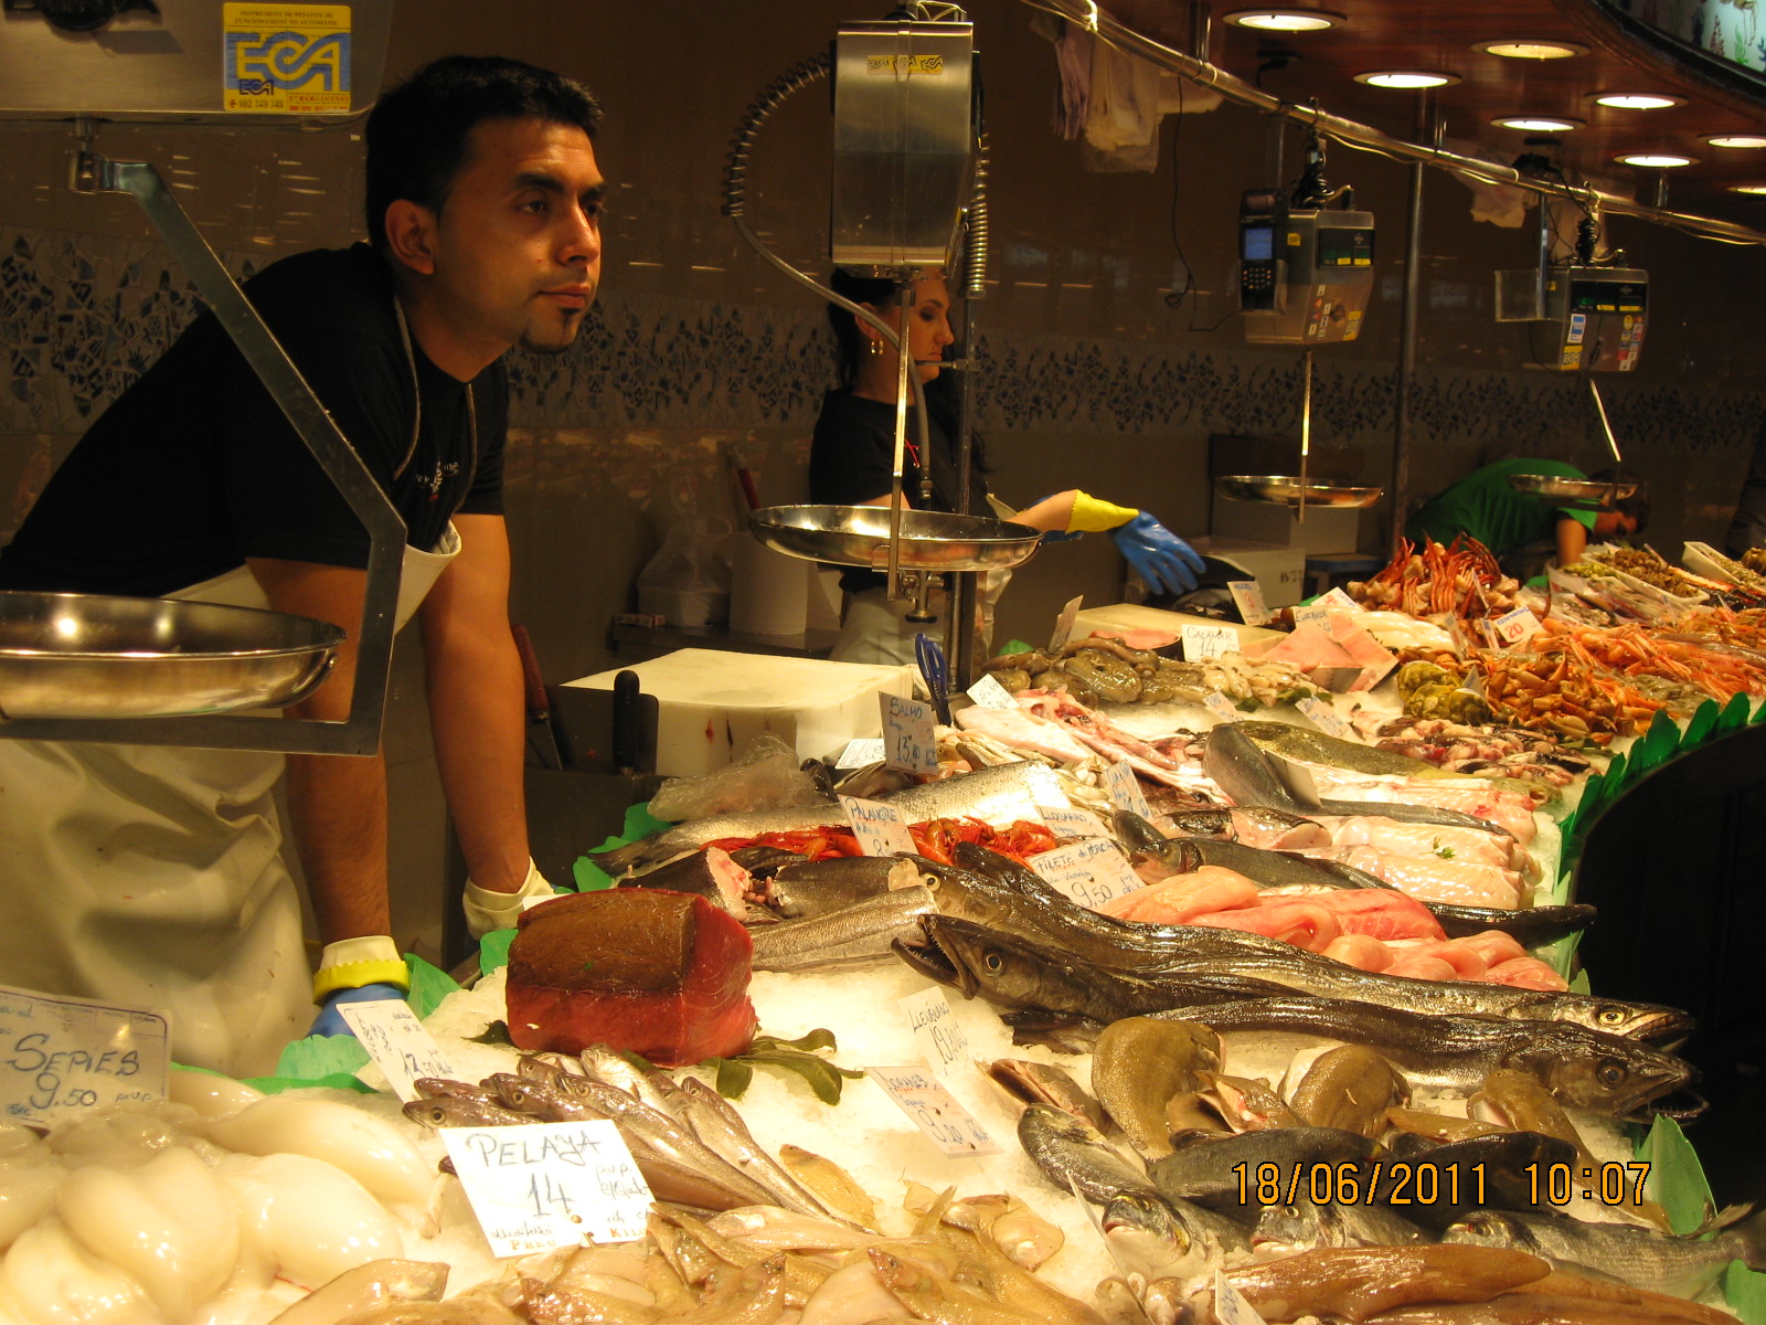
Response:
M1588 1185L1588 1177L1577 1178ZM1634 1288L1697 1297L1732 1260L1766 1270L1766 1212L1709 1240L1657 1233L1635 1224L1593 1224L1565 1215L1475 1210L1441 1235L1443 1242L1512 1247L1554 1261L1611 1274Z

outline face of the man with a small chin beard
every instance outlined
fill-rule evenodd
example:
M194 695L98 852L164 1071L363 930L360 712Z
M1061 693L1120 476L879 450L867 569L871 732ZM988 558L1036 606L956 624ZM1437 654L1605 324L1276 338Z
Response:
M602 178L576 125L486 120L436 219L431 288L461 339L569 348L600 283Z

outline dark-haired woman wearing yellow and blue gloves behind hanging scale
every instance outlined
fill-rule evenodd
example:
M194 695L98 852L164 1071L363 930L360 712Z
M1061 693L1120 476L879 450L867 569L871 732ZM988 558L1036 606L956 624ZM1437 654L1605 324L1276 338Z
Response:
M837 295L864 304L901 334L899 286L890 279L851 276L835 269L832 288ZM809 500L828 505L888 505L895 454L895 385L899 360L894 346L869 322L839 304L828 306L828 322L839 350L841 385L821 401L816 435L809 452ZM955 343L950 330L950 290L941 272L929 272L913 283L908 304L908 355L925 385L931 440L922 442L913 410L908 412L908 454L902 470L902 500L918 500L920 475L931 475L932 509L957 509L955 408L940 362ZM985 514L1000 509L987 495L987 466L977 445L970 475L970 511ZM1065 539L1109 530L1128 564L1141 572L1155 594L1196 588L1203 560L1183 539L1153 516L1132 507L1113 505L1068 489L1045 496L1010 516L1019 525ZM992 604L1010 576L991 572L980 592L984 636L992 625ZM908 602L890 602L883 574L849 569L841 576L846 592L841 640L834 657L841 662L911 662L917 627L906 620Z

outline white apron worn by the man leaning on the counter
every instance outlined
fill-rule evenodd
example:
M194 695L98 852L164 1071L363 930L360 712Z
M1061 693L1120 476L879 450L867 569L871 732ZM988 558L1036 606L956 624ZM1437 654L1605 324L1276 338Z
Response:
M459 551L404 549L403 627ZM166 597L267 608L247 567ZM265 719L274 721L274 719ZM171 1056L263 1076L313 1021L284 756L0 740L0 984L171 1014Z

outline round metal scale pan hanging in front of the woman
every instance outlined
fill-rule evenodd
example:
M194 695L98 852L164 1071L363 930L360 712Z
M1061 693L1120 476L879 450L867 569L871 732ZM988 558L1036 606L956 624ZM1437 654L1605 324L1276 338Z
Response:
M888 565L890 512L879 505L774 505L749 516L774 551L835 565ZM901 512L901 564L913 571L1003 571L1037 551L1038 530L987 516Z

